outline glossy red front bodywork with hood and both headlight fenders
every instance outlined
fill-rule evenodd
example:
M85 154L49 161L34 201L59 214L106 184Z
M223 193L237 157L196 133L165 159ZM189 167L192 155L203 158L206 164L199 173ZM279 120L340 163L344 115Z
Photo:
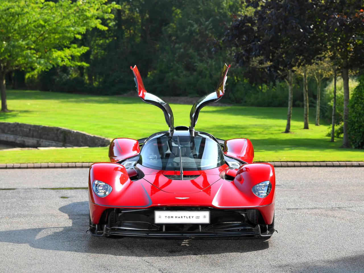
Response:
M146 169L148 168L143 167L143 171L147 171ZM131 181L122 165L95 163L91 165L89 175L91 220L93 223L99 223L103 211L114 207L207 206L218 209L256 208L266 223L272 223L275 197L273 166L268 163L245 164L238 169L234 181L226 181L219 177L218 174L225 171L226 167L191 171L201 174L200 178L181 181L171 180L163 175L171 171L150 169L150 174L145 178ZM93 192L91 185L95 179L112 187L108 196L101 198ZM265 198L254 195L252 187L267 180L272 183L270 194ZM176 197L188 198L176 199Z

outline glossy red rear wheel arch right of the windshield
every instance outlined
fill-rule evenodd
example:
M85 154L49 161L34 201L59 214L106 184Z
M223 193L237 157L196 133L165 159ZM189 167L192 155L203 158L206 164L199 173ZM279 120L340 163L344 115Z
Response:
M247 163L253 163L254 148L252 142L247 138L234 138L224 142L224 154L229 157L240 159Z

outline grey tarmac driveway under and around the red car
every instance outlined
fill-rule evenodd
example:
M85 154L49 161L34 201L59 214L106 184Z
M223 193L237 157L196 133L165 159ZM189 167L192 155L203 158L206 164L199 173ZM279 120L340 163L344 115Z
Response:
M85 233L87 169L0 170L0 272L364 272L364 168L276 168L275 233L105 238ZM7 189L7 190L4 190Z

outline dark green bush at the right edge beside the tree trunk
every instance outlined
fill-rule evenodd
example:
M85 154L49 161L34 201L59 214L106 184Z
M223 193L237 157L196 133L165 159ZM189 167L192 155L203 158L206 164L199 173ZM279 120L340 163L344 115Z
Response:
M364 148L364 75L359 78L349 102L348 131L351 145Z

